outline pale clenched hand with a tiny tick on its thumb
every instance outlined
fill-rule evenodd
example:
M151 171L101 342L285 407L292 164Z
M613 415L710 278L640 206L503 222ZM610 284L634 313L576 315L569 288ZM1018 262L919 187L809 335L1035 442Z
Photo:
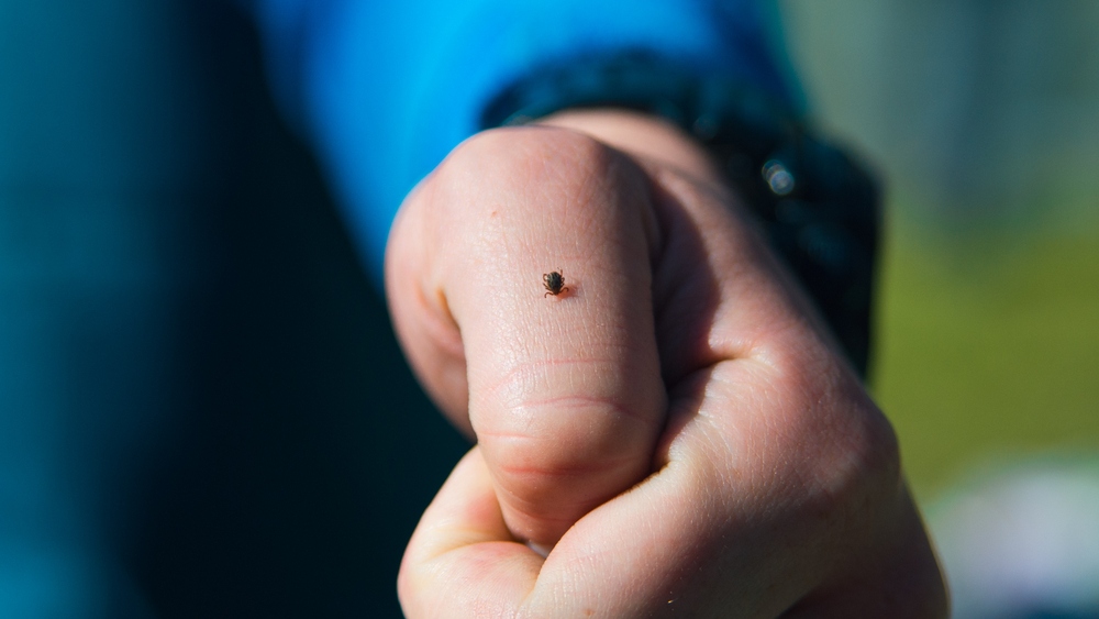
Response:
M481 133L386 262L477 440L409 542L409 617L946 616L889 422L689 137L609 110Z

